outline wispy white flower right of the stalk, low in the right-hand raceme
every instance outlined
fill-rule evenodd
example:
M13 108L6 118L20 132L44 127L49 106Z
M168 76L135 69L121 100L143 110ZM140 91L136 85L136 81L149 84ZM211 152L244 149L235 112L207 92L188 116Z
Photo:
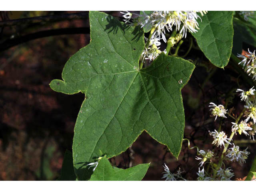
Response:
M228 160L239 162L239 164L243 164L249 154L250 152L247 151L247 148L240 151L239 146L235 146L235 144L226 151L226 157Z

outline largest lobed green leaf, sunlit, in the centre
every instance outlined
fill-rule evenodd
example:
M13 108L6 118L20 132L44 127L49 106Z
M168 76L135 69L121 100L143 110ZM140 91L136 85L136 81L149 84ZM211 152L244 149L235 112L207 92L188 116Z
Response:
M73 158L79 180L89 162L124 152L146 130L178 157L185 126L181 89L194 64L160 54L138 70L144 50L140 27L126 26L102 12L90 12L91 42L72 56L62 80L50 87L83 92L74 128Z

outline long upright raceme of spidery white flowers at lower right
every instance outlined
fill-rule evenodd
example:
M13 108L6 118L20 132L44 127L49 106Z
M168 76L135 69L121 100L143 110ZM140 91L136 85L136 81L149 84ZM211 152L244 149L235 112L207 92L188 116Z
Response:
M254 62L254 58L250 58L249 62ZM214 139L212 144L216 145L217 147L224 146L224 150L222 151L218 164L215 163L215 160L217 160L218 157L214 158L214 152L212 152L211 150L208 150L208 152L206 152L197 148L198 154L202 156L196 156L196 159L200 160L200 167L202 167L202 170L199 168L197 173L198 180L230 180L234 176L234 173L232 173L231 167L225 169L225 163L223 162L223 160L229 160L232 162L238 162L239 164L243 164L246 162L246 159L250 154L250 152L247 151L248 148L244 150L239 150L239 146L232 144L231 141L236 132L238 132L240 135L242 133L246 136L250 135L250 138L252 136L252 138L254 139L254 135L256 134L256 99L254 96L255 89L254 87L250 88L248 91L237 89L236 92L240 93L241 101L246 102L244 110L237 118L234 115L230 114L231 110L230 112L228 112L228 110L226 110L223 105L217 106L214 103L210 103L210 111L212 115L215 116L215 120L217 117L226 118L225 115L228 114L228 116L235 119L236 121L232 122L232 134L229 138L223 131L220 131L220 127L218 131L209 131L210 135ZM247 118L245 120L240 120L243 115ZM250 119L252 119L252 121L250 121ZM233 146L228 148L229 144L232 144ZM204 170L203 166L204 162L206 161L212 164L212 171L209 171L210 166L207 168L207 172ZM206 177L206 175L210 177Z

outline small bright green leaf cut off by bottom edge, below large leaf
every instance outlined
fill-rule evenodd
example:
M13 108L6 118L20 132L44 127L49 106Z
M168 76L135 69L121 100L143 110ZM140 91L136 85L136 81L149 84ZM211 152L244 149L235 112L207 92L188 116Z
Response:
M90 181L140 181L148 171L148 164L140 164L128 169L112 167L106 157L102 157Z

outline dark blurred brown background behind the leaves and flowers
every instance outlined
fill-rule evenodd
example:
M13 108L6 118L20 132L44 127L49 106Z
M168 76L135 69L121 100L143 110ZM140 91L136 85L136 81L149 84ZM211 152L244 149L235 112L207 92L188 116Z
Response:
M119 12L107 13L122 19ZM88 12L0 12L0 180L56 180L60 175L64 152L72 149L74 125L84 95L54 92L49 83L61 79L68 58L89 44L89 27ZM190 38L189 34L181 52L188 50ZM244 50L248 47L243 44ZM220 119L214 122L215 118L210 117L209 102L228 102L228 108L234 107L232 112L239 114L243 103L235 91L250 86L232 65L225 70L214 67L196 46L186 59L194 62L196 69L182 89L184 138L191 146L212 149L208 131L217 129ZM222 121L222 130L228 134L231 122L230 118ZM248 174L256 153L255 142L240 135L234 137L234 142L251 152L243 166L226 165L232 166L236 175L233 179L239 180ZM215 152L220 154L217 148ZM186 141L177 161L164 145L143 132L126 152L110 162L119 168L151 162L144 180L162 180L164 163L171 172L181 168L184 178L196 180L199 161L195 158L196 150L189 150Z

